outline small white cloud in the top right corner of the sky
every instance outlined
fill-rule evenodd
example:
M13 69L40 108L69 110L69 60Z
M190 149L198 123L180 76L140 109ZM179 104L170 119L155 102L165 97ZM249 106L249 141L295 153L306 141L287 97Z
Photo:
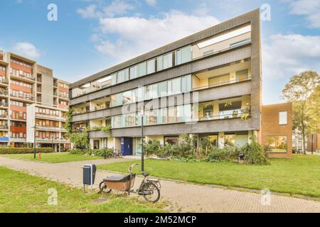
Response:
M292 0L289 1L290 13L306 16L310 28L320 28L320 1L319 0Z

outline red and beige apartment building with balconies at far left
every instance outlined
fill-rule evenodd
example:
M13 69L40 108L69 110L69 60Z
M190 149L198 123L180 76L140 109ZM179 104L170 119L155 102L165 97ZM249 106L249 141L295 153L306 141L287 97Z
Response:
M0 144L65 150L68 82L35 61L0 51ZM36 126L36 133L33 131Z

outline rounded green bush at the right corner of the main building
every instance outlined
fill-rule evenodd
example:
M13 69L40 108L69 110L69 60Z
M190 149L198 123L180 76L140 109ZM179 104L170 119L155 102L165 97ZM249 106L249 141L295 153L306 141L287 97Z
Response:
M241 152L245 155L245 162L252 165L267 165L269 161L267 159L267 153L262 145L256 141L252 141L241 148Z

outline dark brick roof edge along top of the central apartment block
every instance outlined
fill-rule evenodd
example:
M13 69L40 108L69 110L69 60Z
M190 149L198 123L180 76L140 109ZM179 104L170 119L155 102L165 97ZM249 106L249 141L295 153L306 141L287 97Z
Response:
M117 72L119 70L123 70L124 68L130 67L132 65L136 65L139 62L144 62L145 60L149 60L153 57L163 55L166 52L170 52L170 51L176 50L178 48L181 48L183 46L190 45L192 43L197 42L198 40L203 40L203 39L208 38L212 35L222 33L223 31L227 31L230 28L235 28L235 27L240 26L242 24L249 23L250 21L252 21L253 18L260 18L260 9L255 9L253 11L243 13L242 15L236 16L235 18L231 18L228 21L224 21L224 22L219 23L215 26L207 28L203 31L200 31L198 33L194 33L193 35L189 35L185 38L181 38L180 40L176 40L173 43L169 43L167 45L164 45L161 48L151 50L150 52L146 52L142 55L139 55L138 57L134 57L130 60L127 60L125 62L114 65L113 67L107 68L107 70L102 70L101 72L97 72L96 74L92 74L89 77L85 77L83 79L80 79L77 82L71 83L70 89L73 89L75 87L79 87L82 84L86 84L88 82L95 81L97 79L100 79L101 77L105 77L108 74L112 74L112 73Z

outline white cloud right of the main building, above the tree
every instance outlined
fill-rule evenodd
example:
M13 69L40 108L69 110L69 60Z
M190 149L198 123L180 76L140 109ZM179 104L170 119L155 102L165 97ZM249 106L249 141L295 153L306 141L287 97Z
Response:
M320 72L320 36L272 35L262 45L263 77L290 77L304 70Z

